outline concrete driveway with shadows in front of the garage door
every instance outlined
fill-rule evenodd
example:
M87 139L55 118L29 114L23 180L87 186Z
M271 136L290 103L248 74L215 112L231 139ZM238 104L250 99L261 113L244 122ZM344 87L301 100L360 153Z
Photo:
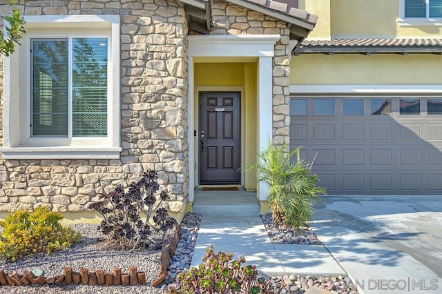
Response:
M360 293L442 293L442 196L325 196L312 226Z

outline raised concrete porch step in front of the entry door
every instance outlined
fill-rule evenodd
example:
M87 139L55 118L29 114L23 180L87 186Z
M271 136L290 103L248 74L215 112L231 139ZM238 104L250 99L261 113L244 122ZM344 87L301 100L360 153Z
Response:
M194 213L243 217L260 215L256 192L247 192L244 188L238 188L238 191L195 188L194 193Z

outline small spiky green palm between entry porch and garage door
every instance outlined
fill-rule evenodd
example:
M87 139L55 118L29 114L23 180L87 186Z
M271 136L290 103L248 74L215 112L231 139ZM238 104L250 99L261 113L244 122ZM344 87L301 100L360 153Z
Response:
M258 157L259 163L249 168L256 168L259 181L269 186L267 201L273 220L294 228L305 226L314 204L322 201L318 194L324 194L325 189L316 186L318 176L300 159L300 147L287 152L286 145L269 143Z

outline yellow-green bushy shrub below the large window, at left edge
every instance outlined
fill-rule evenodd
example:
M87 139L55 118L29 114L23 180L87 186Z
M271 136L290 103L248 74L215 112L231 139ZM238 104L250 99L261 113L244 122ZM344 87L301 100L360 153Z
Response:
M69 247L80 238L72 228L62 226L60 213L52 213L46 206L34 212L18 210L0 222L0 256L15 262L35 253L50 254Z

